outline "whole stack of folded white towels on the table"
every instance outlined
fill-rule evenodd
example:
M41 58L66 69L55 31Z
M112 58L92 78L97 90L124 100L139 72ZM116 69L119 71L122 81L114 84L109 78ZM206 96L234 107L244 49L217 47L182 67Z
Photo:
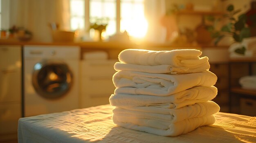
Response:
M215 122L220 107L215 74L201 51L127 49L119 54L110 96L113 122L161 136L185 134Z

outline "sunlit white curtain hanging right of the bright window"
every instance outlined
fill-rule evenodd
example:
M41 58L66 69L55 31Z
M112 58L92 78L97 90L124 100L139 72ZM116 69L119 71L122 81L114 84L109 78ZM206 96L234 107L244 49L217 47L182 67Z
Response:
M146 39L149 42L165 42L166 29L160 24L165 12L165 0L145 0L145 17L148 21Z

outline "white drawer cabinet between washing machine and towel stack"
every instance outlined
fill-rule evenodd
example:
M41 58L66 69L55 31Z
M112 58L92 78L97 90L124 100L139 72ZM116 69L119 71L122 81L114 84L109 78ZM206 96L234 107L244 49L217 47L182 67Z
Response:
M115 86L112 76L117 60L81 61L80 108L109 104Z

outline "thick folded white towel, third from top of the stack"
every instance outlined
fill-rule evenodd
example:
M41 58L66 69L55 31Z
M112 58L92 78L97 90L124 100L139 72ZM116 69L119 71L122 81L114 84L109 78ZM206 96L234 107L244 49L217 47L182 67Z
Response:
M195 87L213 86L217 76L210 71L184 75L118 71L113 75L115 94L166 96Z

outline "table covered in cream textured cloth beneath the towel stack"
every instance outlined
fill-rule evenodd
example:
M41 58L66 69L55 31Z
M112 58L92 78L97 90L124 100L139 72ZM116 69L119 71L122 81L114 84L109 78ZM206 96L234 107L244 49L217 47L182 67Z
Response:
M118 127L110 105L19 120L19 143L240 143L256 142L256 117L218 112L213 125L179 136L157 136Z

